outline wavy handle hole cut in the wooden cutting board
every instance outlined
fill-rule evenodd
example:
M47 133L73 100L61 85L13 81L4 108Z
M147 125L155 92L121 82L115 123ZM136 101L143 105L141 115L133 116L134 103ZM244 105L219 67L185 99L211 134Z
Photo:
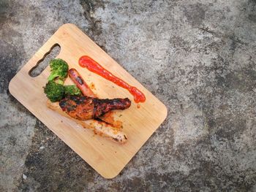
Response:
M29 70L29 76L30 77L37 77L39 74L42 73L43 70L50 64L50 60L53 58L56 58L57 55L59 55L61 51L61 46L59 44L53 45L53 47L50 48L50 50L45 53L45 55L37 61L37 64Z

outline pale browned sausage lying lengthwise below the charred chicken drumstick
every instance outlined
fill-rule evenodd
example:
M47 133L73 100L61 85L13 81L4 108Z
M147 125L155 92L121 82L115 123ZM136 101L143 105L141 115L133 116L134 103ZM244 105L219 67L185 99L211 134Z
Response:
M67 118L75 120L75 122L77 122L84 128L91 128L94 131L94 133L99 134L100 136L107 137L108 139L114 142L118 142L120 144L127 142L127 135L124 134L124 132L120 131L118 128L110 126L105 122L99 122L97 120L77 120L71 118L69 115L67 115L66 112L63 112L61 110L61 107L59 107L59 102L53 103L50 100L48 100L47 107L53 111L58 112L61 115L64 115Z

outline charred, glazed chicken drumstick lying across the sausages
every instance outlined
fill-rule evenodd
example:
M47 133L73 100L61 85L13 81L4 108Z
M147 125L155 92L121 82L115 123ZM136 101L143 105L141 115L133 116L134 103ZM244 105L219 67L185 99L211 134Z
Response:
M131 105L126 99L97 99L89 96L68 96L59 106L69 116L78 120L96 119L110 110L125 110Z

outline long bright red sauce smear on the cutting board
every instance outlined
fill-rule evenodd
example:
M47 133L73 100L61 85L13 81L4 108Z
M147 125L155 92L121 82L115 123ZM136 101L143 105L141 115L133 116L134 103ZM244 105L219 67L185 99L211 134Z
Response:
M127 89L129 93L131 93L132 96L134 96L134 100L136 103L146 101L145 95L140 90L138 90L138 88L135 88L129 85L127 82L124 82L123 80L119 79L112 73L108 72L107 69L104 69L100 64L97 63L97 61L94 61L89 56L82 56L79 59L79 65L82 67L86 67L91 72L99 74L100 76L104 77L106 80L110 80L111 82L115 83L121 88Z

